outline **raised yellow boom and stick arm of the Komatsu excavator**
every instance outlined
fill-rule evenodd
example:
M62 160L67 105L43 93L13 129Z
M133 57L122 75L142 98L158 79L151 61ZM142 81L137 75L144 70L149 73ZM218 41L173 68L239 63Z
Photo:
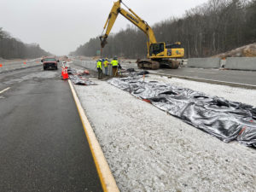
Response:
M113 27L113 24L119 14L123 15L127 20L130 20L131 23L133 23L135 26L137 26L139 29L141 29L148 37L148 44L156 44L156 39L154 37L154 32L151 29L150 26L148 26L148 23L142 20L138 15L136 15L131 9L129 9L127 6L125 6L128 10L122 9L120 7L122 1L119 0L115 3L113 3L113 8L110 11L110 14L108 15L108 20L105 23L105 26L103 27L102 36L101 39L101 45L102 48L107 44L107 38L108 35ZM124 4L124 3L123 3ZM125 4L124 4L125 5ZM105 34L103 34L105 32Z

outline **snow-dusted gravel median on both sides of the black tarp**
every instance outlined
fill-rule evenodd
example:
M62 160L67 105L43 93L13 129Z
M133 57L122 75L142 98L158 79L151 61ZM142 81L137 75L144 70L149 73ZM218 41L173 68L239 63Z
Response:
M256 106L255 90L158 80ZM256 150L224 143L107 82L75 85L121 191L255 191ZM253 101L254 100L254 101Z

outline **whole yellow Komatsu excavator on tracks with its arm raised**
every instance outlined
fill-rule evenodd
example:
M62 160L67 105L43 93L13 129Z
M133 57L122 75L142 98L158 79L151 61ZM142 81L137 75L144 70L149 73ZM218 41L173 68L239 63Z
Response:
M129 10L121 8L121 3ZM101 46L107 44L108 35L113 27L113 23L118 15L123 15L127 20L130 20L135 26L141 29L148 37L148 60L137 60L139 68L158 69L162 66L176 69L179 66L177 58L183 58L184 49L180 42L175 44L166 44L165 42L157 42L154 37L154 32L148 23L136 15L130 8L128 8L122 0L113 3L113 8L108 15L108 20L103 28L101 39ZM103 34L105 32L105 34ZM150 59L150 60L149 60Z

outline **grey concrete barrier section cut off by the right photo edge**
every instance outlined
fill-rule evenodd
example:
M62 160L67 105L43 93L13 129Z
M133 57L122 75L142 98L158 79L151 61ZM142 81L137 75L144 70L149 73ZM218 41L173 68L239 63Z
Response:
M228 57L224 68L256 71L256 57Z

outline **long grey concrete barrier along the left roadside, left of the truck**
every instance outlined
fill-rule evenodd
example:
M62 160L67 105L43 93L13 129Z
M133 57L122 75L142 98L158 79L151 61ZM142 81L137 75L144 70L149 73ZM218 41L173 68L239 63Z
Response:
M0 73L13 71L16 69L27 68L27 67L37 67L40 65L42 65L42 63L38 59L30 60L30 61L13 61L13 62L0 61Z

